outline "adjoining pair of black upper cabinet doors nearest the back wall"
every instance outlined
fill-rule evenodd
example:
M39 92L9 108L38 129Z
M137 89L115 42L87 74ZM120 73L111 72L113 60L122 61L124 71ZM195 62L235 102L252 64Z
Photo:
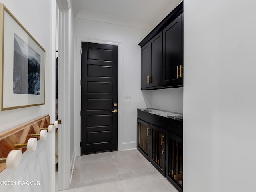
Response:
M141 49L141 88L162 85L162 32ZM161 65L161 67L159 67Z

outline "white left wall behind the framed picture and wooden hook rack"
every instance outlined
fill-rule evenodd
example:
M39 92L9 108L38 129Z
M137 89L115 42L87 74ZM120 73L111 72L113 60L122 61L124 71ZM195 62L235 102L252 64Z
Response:
M32 34L39 44L46 50L45 57L45 105L20 108L0 112L0 132L40 117L45 114L54 120L54 86L52 77L55 76L55 41L52 28L52 1L34 0L1 0L1 3L14 14L20 23ZM55 9L55 8L54 8ZM54 13L55 20L55 13ZM54 134L48 134L46 141L39 141L35 152L22 154L20 166L14 170L5 169L0 173L0 180L6 181L39 181L40 186L0 186L5 192L45 192L54 186ZM53 148L52 148L53 147Z

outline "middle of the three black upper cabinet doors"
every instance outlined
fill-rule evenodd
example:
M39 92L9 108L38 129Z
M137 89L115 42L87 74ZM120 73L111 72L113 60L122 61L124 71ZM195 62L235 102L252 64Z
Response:
M162 85L162 32L156 35L151 44L151 75L150 87Z

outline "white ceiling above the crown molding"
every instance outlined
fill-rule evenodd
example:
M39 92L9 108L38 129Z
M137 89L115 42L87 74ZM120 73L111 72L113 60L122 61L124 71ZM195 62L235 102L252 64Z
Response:
M76 18L152 30L181 0L72 0ZM107 19L109 18L109 19ZM122 22L123 21L123 22Z

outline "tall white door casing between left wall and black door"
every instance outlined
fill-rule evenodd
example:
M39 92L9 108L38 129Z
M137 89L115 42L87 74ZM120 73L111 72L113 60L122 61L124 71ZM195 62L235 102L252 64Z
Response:
M68 0L56 0L58 32L58 190L70 186L70 6Z

